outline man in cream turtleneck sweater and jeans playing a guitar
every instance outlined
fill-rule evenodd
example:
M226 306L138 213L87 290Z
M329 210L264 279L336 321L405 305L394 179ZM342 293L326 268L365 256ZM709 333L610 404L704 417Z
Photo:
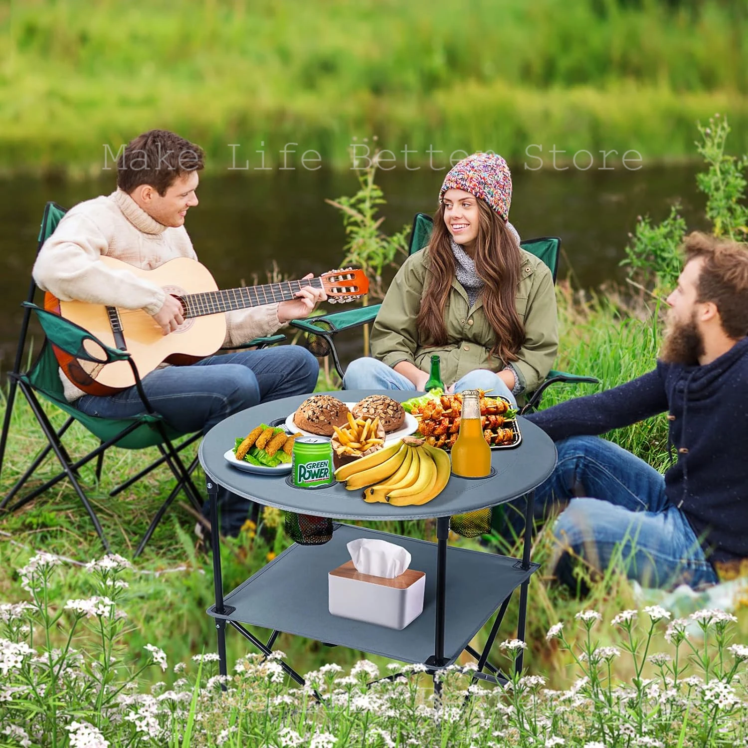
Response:
M117 190L79 203L62 218L34 265L34 281L64 301L87 301L146 311L163 334L183 324L180 301L161 286L126 269L114 269L102 256L141 269L177 257L197 256L184 227L197 206L203 151L173 132L150 130L130 141L117 159ZM310 275L305 278L310 278ZM239 346L274 334L291 319L306 317L322 288L305 286L290 301L226 312L225 346ZM156 369L143 378L153 408L175 429L208 432L221 420L259 402L313 391L319 365L301 346L277 346L212 355L189 366ZM107 396L85 394L62 372L65 396L83 412L106 418L143 412L135 387ZM221 532L237 535L251 506L220 489ZM203 506L207 516L209 506Z

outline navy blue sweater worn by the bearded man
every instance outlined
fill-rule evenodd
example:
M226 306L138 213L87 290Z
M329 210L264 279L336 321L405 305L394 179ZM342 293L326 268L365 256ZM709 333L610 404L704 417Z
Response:
M527 420L554 441L604 434L668 411L677 459L665 493L711 561L748 557L748 338L705 366L657 361L620 387L571 399Z

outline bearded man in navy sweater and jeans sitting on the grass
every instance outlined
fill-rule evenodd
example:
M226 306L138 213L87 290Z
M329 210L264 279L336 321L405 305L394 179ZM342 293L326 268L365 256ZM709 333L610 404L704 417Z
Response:
M645 586L695 587L748 557L748 246L692 233L684 252L655 369L527 417L557 441L536 509L565 505L551 563L572 588L575 558L597 571L615 562ZM597 436L664 411L664 476Z

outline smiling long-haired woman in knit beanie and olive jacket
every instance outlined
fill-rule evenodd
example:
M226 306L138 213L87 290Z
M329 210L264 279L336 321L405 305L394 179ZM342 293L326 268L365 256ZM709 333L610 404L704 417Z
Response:
M432 355L447 390L534 390L558 345L551 272L509 224L512 175L474 153L441 186L429 245L403 263L372 331L374 358L346 370L349 389L423 390Z

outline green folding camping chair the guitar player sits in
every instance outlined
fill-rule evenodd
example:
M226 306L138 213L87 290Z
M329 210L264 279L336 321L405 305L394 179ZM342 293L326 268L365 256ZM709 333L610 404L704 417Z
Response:
M64 213L65 209L56 203L46 204L38 238L37 253L43 243L46 242L46 239L52 235ZM145 548L150 537L153 535L153 531L156 530L159 521L161 521L166 510L180 491L185 491L191 505L194 509L200 511L202 504L200 493L197 491L197 488L195 488L190 477L194 468L197 467L197 457L191 461L188 467L185 467L182 459L180 459L179 453L190 444L197 441L201 434L198 432L189 435L185 441L175 447L172 440L186 435L172 429L171 426L168 426L168 424L165 423L159 414L153 411L153 407L150 405L150 402L148 402L142 389L137 367L135 367L135 363L129 358L129 354L125 351L105 346L88 333L88 331L85 331L78 325L74 325L72 322L63 319L56 314L37 307L33 303L36 291L37 286L32 279L28 291L28 299L23 304L23 320L21 333L19 335L18 348L16 349L15 364L13 366L13 371L8 373L8 396L3 429L0 435L0 470L2 469L5 447L7 445L16 389L20 389L28 400L28 404L31 406L34 416L37 418L41 429L46 435L48 444L43 448L43 450L41 450L34 461L31 462L29 468L25 470L25 473L23 473L16 481L15 485L10 488L10 491L0 502L0 510L5 509L13 512L42 494L43 491L46 491L48 488L51 488L53 485L67 477L70 479L76 494L78 494L78 497L83 503L83 506L85 506L88 515L91 517L96 533L98 533L99 538L101 538L105 549L108 550L109 544L104 536L99 519L96 517L96 512L94 512L90 500L80 485L79 468L82 468L83 465L91 462L93 458L96 458L96 480L99 480L102 472L104 454L109 447L140 450L145 447L155 446L158 448L160 453L159 459L156 459L155 462L147 465L147 467L140 470L137 475L132 476L109 493L112 497L117 495L120 491L129 488L130 485L150 473L151 470L154 470L155 468L158 468L159 465L163 464L168 465L171 472L174 473L174 477L177 479L176 485L174 485L174 488L171 490L171 493L168 495L159 511L154 515L153 521L151 521L150 526L141 539L138 549L135 551L135 556L137 557ZM46 338L34 364L32 364L28 370L23 370L22 361L24 358L26 337L28 335L28 327L32 312L37 314ZM284 338L285 336L283 335L258 338L242 347L253 346L262 348L270 343L278 343L279 341L284 340ZM65 399L64 396L62 382L60 380L58 361L55 358L55 352L52 349L52 345L58 346L65 352L74 355L76 358L82 358L84 360L94 361L101 364L110 363L111 361L128 361L135 375L135 383L136 387L138 387L138 393L143 400L143 414L125 419L102 418L82 413L75 405L67 402L67 399ZM95 351L93 355L91 354L91 346L93 346L93 350ZM41 396L61 411L67 413L68 418L61 428L55 429L55 427L52 426L52 423L42 408L37 396ZM100 443L99 447L96 447L96 449L88 453L88 455L73 461L67 448L64 447L61 438L75 421L81 423L89 432L99 438ZM8 505L10 502L12 502L19 494L19 491L23 488L25 483L28 482L28 479L34 475L37 468L39 468L50 452L53 452L61 463L63 468L62 471L51 479L46 480L43 485L34 488L28 494L25 494L25 496L16 500L16 502L9 507Z

